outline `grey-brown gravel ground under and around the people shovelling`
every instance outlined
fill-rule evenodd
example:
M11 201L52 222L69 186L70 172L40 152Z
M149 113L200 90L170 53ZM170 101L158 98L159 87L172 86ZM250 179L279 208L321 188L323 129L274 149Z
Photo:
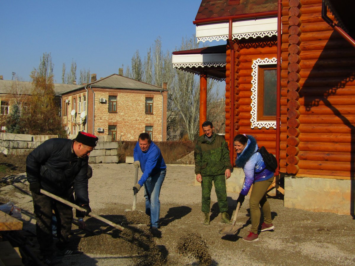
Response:
M89 198L92 211L127 226L131 218L126 218L125 210L132 209L133 203L133 165L91 166ZM23 229L35 232L26 178L19 175L11 180L13 185L0 189L0 201L12 200L20 207ZM282 200L269 198L275 230L262 232L257 242L245 242L241 238L251 226L248 196L237 216L238 232L220 235L219 230L226 225L219 222L214 189L211 224L203 226L201 187L193 184L193 166L168 165L160 193L161 236L152 236L146 226L139 225L129 227L129 233L120 232L87 217L87 226L98 235L83 233L73 225L73 243L84 254L65 257L61 265L147 265L154 262L156 265L202 265L208 260L196 256L199 250L200 254L211 256L212 265L355 265L355 221L351 216L286 208ZM137 194L137 210L141 211L144 211L143 194L143 190ZM231 217L237 196L237 193L228 193ZM196 248L198 243L201 243L200 249Z

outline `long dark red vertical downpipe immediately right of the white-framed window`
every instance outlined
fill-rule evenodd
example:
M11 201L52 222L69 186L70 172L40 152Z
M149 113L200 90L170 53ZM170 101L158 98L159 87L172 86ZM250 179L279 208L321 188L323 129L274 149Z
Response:
M280 174L280 123L281 123L281 18L282 0L277 3L277 65L276 65L276 160L277 168L275 176Z

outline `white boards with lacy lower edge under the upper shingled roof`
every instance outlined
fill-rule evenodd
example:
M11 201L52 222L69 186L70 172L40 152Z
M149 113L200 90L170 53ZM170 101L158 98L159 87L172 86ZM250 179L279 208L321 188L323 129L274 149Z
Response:
M196 25L197 41L227 40L229 33L228 22L216 22ZM248 39L250 37L271 37L277 35L277 17L239 20L232 23L233 39Z

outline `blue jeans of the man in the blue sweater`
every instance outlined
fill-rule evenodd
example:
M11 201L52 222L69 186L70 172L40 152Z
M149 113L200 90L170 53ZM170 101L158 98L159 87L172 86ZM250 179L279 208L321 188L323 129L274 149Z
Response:
M146 214L151 217L151 227L159 227L160 189L165 179L166 169L148 177L144 183L144 197L146 198Z

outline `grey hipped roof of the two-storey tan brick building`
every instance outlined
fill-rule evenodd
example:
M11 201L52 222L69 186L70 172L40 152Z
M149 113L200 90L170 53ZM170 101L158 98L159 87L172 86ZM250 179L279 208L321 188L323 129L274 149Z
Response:
M82 89L85 86L91 86L93 88L107 88L107 89L129 89L129 90L150 90L150 91L161 91L164 90L158 86L154 86L141 81L136 81L135 79L120 76L118 74L112 74L108 77L98 79L97 81L88 83L86 85L81 85L80 87L73 88L63 92L62 94L72 92L76 89Z

